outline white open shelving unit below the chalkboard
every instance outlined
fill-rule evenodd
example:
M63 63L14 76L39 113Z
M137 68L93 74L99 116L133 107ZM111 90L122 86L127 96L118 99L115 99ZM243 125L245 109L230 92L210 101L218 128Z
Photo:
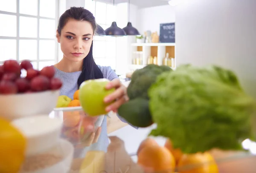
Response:
M142 64L134 65L133 52L140 51L142 52ZM169 57L174 58L174 68L176 67L176 57L175 57L175 43L132 43L131 44L132 54L129 57L129 69L136 70L143 68L148 63L148 57L157 57L157 65L163 65L163 59L166 57L166 53L169 53Z

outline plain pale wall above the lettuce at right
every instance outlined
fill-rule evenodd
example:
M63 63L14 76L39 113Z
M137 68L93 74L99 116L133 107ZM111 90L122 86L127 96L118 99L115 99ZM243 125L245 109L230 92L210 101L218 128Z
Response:
M256 0L190 0L176 6L177 65L235 71L256 98Z

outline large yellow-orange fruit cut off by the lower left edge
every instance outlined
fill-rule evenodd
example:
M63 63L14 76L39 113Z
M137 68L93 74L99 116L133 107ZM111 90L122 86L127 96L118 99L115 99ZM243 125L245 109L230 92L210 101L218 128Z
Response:
M25 159L26 138L0 118L0 173L17 173Z

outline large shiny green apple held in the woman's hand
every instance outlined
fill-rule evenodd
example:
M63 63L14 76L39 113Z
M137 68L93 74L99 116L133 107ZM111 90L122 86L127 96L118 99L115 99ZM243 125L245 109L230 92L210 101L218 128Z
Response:
M115 91L115 88L109 90L105 88L108 82L110 82L108 79L91 79L81 83L79 100L81 107L88 116L99 116L108 113L105 108L112 102L105 103L104 98Z

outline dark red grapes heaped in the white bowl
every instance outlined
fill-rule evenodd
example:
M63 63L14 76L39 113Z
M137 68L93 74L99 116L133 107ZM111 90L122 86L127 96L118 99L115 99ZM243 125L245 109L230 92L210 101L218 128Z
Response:
M26 77L20 77L22 69L26 70ZM23 60L20 64L16 60L6 60L0 66L0 94L58 90L62 82L54 75L54 66L38 71L29 60Z

